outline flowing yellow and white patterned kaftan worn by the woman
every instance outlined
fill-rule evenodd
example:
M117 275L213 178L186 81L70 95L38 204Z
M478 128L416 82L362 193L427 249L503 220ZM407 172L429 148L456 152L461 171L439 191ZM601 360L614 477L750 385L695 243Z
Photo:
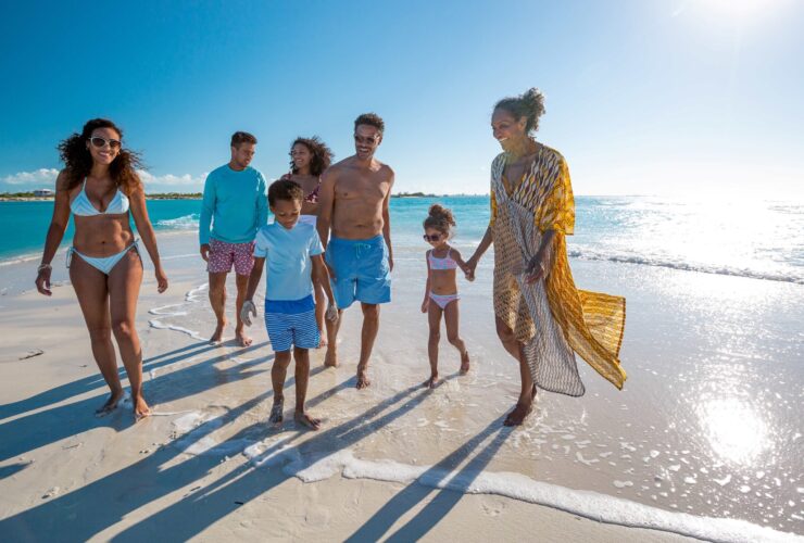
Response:
M532 164L508 193L503 182L506 153L491 164L491 227L494 242L494 314L525 345L537 387L580 396L585 392L575 355L618 389L626 372L619 349L626 300L575 287L565 236L575 228L569 169L555 150L537 143ZM554 230L547 279L524 281L544 231Z

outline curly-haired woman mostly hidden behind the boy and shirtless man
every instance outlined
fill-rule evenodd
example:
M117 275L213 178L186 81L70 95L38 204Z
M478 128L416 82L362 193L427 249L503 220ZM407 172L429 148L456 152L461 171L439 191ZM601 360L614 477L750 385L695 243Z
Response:
M315 226L318 216L318 189L321 175L332 163L332 151L321 138L296 138L290 146L290 173L282 179L298 182L304 191L299 223ZM318 348L327 346L327 329L324 326L324 312L327 308L326 295L321 285L315 286L315 321L318 324L321 342Z

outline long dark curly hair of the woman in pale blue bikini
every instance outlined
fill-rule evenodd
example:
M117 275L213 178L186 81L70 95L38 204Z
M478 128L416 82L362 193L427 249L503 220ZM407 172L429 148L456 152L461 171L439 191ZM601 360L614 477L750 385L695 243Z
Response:
M87 149L87 141L97 128L111 128L117 132L123 141L123 130L108 118L87 121L80 134L73 134L59 143L56 148L67 175L67 190L80 185L92 169L92 155ZM142 189L142 181L137 175L137 168L143 168L139 153L121 146L117 156L109 166L109 175L117 187L126 194Z

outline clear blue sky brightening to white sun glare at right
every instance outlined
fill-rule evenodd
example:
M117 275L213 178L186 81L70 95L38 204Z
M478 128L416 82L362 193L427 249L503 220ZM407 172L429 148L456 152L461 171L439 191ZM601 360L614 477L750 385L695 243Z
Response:
M536 86L576 193L801 199L801 28L796 0L7 2L0 192L52 185L95 116L155 192L200 190L237 129L269 178L297 135L346 157L376 111L397 191L483 193L491 108Z

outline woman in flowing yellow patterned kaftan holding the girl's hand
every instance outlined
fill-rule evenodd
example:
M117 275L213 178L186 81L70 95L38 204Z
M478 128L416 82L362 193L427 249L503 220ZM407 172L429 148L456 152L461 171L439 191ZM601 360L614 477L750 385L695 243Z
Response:
M543 112L538 89L494 108L492 129L503 153L491 164L491 220L467 261L474 275L494 243L497 332L522 375L506 426L527 417L537 387L583 394L575 353L618 389L626 379L618 359L626 301L575 287L564 239L575 226L569 171L557 151L530 136Z

